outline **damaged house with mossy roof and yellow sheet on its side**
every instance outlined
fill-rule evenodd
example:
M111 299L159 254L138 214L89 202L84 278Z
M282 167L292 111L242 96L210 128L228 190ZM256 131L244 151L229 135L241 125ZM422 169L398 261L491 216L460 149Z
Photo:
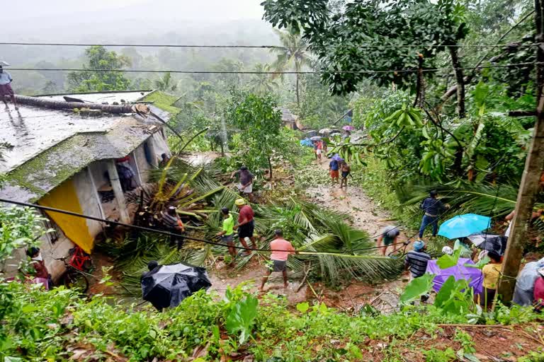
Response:
M148 101L160 96L152 91L18 96L18 111L0 113L0 142L9 145L0 160L0 173L8 179L0 197L130 223L125 192L147 182L162 153L169 155L157 118L167 122L170 114ZM55 233L42 237L40 248L55 279L64 264L53 258L66 256L74 244L90 253L103 223L49 211L44 216ZM17 250L4 265L8 276L21 257L25 251Z

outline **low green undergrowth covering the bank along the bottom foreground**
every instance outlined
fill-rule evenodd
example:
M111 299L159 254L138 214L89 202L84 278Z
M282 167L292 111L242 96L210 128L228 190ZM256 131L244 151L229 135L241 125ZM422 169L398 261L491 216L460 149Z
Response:
M103 296L81 300L77 293L64 288L49 293L16 283L2 283L0 288L4 321L0 326L0 357L26 361L67 361L74 354L98 361L112 357L187 361L198 346L205 346L199 361L220 361L222 356L241 350L257 361L362 361L371 353L378 353L380 361L399 361L389 355L402 351L400 346L424 351L427 361L451 361L453 348L463 356L470 354L474 345L460 330L449 349L431 349L441 331L438 324L467 322L463 315L443 313L432 306L370 316L339 313L323 303L301 303L292 312L281 298L263 296L258 302L239 286L228 291L224 299L198 292L179 307L156 313L147 308L127 308ZM485 322L524 323L527 329L534 329L538 327L530 323L534 318L521 310L514 313L498 308ZM412 339L422 332L430 339ZM396 342L390 344L392 339ZM385 349L376 349L369 340L381 341ZM526 353L541 356L536 351Z

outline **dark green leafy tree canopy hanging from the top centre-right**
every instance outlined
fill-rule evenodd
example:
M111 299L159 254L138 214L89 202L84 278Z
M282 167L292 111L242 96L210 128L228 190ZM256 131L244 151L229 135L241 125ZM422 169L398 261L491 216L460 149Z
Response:
M358 0L337 11L329 9L328 0L262 4L264 18L273 26L304 34L326 71L322 81L334 94L356 91L366 78L379 86L395 83L413 89L419 59L423 57L426 68L436 67L438 52L467 33L464 7L456 0ZM412 71L392 71L397 69Z

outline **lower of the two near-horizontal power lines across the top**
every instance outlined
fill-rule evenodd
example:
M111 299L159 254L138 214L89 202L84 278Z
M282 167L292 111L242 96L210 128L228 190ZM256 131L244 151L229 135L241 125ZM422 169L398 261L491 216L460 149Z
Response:
M490 64L482 65L477 68L510 68L515 66L529 66L540 64L538 62L525 62L515 64ZM460 70L472 70L473 66L466 66L458 68ZM10 68L11 71L96 71L106 72L113 71L119 73L172 73L172 74L387 74L387 73L416 73L418 69L398 69L387 71L180 71L171 69L77 69L77 68ZM433 71L455 71L455 68L429 68L423 69L424 72L429 73Z

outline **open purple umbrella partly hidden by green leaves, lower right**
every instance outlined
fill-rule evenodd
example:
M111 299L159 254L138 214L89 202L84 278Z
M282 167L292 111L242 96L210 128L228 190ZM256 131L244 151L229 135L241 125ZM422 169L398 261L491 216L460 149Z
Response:
M436 275L433 279L434 291L438 293L443 284L446 283L448 277L453 275L455 280L468 280L468 285L474 289L475 294L482 293L482 282L484 281L482 271L477 268L465 267L465 264L474 264L474 262L470 259L460 257L457 265L454 267L440 269L436 264L436 260L429 260L426 272Z

